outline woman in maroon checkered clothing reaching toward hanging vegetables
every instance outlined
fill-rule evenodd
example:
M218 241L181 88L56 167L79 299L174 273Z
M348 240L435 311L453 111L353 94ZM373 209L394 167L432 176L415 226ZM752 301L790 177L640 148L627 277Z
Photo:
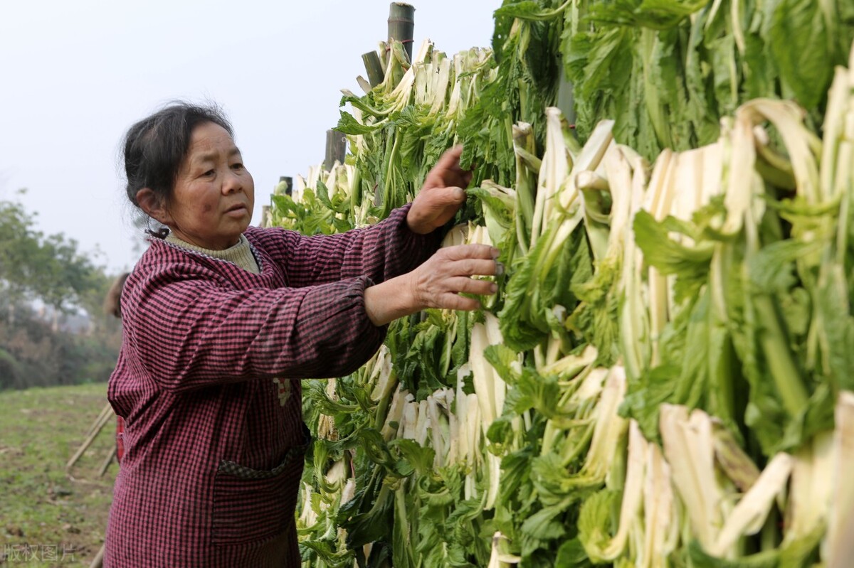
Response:
M127 196L165 225L121 294L108 397L125 421L105 566L297 566L310 438L300 380L352 373L387 324L473 310L490 246L439 249L471 174L447 151L407 206L341 235L250 227L254 183L215 108L127 132Z

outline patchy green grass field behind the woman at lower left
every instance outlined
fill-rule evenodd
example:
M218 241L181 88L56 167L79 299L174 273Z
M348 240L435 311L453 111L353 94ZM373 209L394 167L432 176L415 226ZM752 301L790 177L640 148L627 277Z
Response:
M107 403L107 385L0 391L0 566L88 567L103 543L115 421L71 468L67 461Z

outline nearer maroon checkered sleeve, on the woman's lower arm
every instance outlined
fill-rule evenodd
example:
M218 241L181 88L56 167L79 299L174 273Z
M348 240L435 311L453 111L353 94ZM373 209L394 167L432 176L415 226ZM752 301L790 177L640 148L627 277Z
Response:
M190 274L187 274L188 270ZM365 313L366 276L310 287L235 289L184 264L133 275L125 330L145 374L167 390L352 373L386 327Z

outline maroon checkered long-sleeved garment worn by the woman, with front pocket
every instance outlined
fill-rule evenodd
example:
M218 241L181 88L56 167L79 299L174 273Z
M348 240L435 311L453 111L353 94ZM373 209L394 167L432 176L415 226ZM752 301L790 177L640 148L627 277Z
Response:
M108 397L125 420L104 565L298 566L295 506L310 438L300 379L366 362L386 327L363 292L439 245L408 206L305 237L250 227L261 273L153 240L122 293Z

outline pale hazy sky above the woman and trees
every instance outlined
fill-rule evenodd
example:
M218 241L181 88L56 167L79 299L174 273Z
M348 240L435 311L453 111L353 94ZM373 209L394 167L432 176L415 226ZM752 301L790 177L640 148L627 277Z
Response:
M448 55L489 47L500 3L411 2L413 51L425 39ZM388 17L379 0L2 2L0 200L108 274L130 270L140 235L122 136L169 101L214 101L254 177L258 224L280 176L323 161L341 90L362 92L361 55L386 38Z

